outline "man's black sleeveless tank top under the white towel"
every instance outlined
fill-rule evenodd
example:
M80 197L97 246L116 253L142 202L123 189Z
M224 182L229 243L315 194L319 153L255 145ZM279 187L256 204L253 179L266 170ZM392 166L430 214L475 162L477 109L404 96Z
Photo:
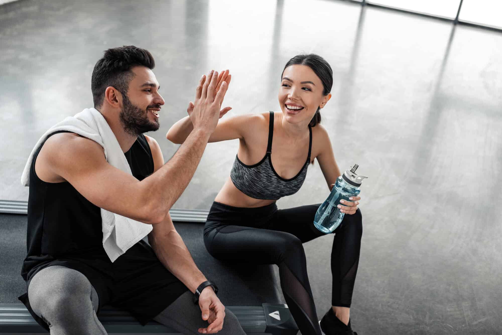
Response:
M82 255L89 259L108 258L102 244L100 208L68 182L46 183L37 177L35 161L41 148L30 169L28 255L21 270L25 280L55 259ZM141 181L154 172L152 151L143 134L124 155L136 179Z

